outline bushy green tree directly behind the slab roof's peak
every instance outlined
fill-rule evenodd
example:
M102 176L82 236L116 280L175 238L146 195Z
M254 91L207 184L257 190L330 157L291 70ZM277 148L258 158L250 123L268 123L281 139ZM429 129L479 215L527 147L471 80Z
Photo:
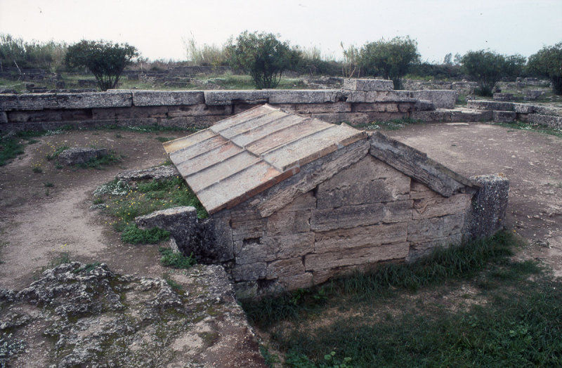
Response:
M230 44L230 65L249 73L256 88L275 88L285 70L296 64L299 53L273 33L242 32Z

